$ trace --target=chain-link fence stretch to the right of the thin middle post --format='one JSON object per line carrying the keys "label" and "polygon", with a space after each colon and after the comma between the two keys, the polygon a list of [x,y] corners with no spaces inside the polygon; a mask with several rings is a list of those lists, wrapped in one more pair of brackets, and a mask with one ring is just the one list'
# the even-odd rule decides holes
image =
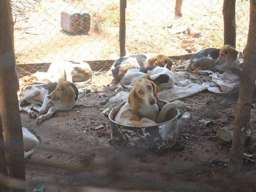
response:
{"label": "chain-link fence stretch to the right of the thin middle post", "polygon": [[[130,54],[163,52],[186,54],[202,48],[223,45],[223,0],[183,0],[182,17],[174,17],[176,0],[128,1],[126,14],[126,50]],[[236,48],[242,51],[247,42],[249,1],[236,0]],[[187,32],[194,27],[201,37]]]}

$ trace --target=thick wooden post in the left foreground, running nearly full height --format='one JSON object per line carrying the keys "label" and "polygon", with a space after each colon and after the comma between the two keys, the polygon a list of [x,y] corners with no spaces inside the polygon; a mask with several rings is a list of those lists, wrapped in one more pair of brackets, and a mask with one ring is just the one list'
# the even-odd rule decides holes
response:
{"label": "thick wooden post in the left foreground, running nearly full height", "polygon": [[[8,176],[25,180],[22,126],[17,97],[13,21],[9,0],[0,1],[0,114]],[[24,192],[25,190],[12,190]]]}

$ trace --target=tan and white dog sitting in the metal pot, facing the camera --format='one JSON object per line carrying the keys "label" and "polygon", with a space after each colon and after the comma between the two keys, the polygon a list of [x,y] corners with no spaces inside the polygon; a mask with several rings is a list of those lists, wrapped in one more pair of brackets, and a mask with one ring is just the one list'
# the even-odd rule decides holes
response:
{"label": "tan and white dog sitting in the metal pot, facing the camera", "polygon": [[120,108],[114,120],[131,126],[152,126],[166,121],[166,114],[171,108],[187,108],[181,101],[164,105],[158,112],[158,87],[152,81],[139,79],[134,83],[128,101]]}

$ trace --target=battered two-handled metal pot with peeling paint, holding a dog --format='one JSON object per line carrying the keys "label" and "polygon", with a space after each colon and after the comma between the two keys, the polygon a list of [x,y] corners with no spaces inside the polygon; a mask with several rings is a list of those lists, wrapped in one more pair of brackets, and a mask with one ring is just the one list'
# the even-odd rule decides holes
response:
{"label": "battered two-handled metal pot with peeling paint, holding a dog", "polygon": [[[117,146],[138,146],[148,150],[171,148],[178,138],[180,122],[189,117],[188,112],[180,114],[178,109],[173,108],[168,111],[168,121],[164,123],[146,127],[123,125],[115,122],[114,118],[125,103],[116,106],[108,115],[111,138]],[[168,102],[160,100],[158,108],[161,110],[166,103]]]}

